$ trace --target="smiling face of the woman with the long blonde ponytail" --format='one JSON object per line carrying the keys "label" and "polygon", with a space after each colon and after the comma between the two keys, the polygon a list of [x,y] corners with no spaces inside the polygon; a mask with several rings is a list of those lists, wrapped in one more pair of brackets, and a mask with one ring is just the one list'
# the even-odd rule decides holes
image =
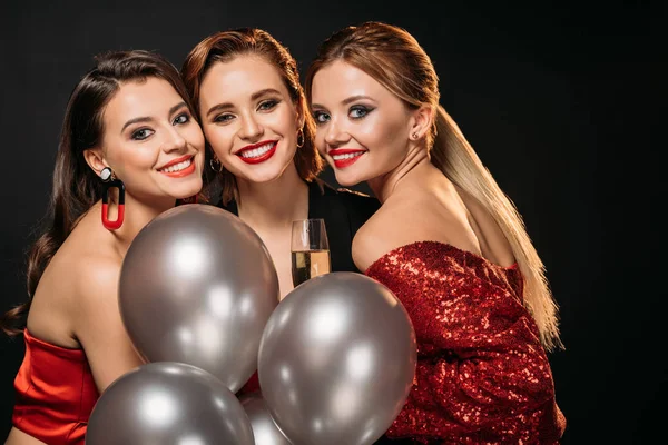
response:
{"label": "smiling face of the woman with the long blonde ponytail", "polygon": [[409,152],[409,109],[350,63],[337,60],[317,71],[311,108],[317,125],[317,149],[343,186],[391,172]]}

